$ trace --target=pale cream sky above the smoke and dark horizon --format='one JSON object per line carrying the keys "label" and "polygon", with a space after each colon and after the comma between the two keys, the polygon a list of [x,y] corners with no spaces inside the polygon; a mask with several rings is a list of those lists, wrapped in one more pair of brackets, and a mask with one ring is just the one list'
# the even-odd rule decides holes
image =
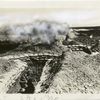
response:
{"label": "pale cream sky above the smoke and dark horizon", "polygon": [[33,19],[100,26],[100,0],[0,0],[1,23]]}

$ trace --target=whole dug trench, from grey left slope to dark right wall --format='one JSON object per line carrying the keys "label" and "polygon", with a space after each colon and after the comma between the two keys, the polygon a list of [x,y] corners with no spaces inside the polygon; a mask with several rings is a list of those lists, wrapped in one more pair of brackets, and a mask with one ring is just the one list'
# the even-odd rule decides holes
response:
{"label": "whole dug trench, from grey left slope to dark right wall", "polygon": [[[48,63],[47,78],[42,80],[42,75],[46,67],[47,60],[43,59],[34,59],[30,57],[26,60],[28,68],[26,68],[21,75],[18,77],[16,82],[9,88],[7,93],[21,93],[21,94],[33,94],[33,93],[44,93],[49,89],[49,86],[52,82],[54,75],[60,70],[61,58],[53,58],[50,63]],[[41,83],[42,80],[42,83]],[[36,87],[40,84],[40,91],[36,92]]]}

